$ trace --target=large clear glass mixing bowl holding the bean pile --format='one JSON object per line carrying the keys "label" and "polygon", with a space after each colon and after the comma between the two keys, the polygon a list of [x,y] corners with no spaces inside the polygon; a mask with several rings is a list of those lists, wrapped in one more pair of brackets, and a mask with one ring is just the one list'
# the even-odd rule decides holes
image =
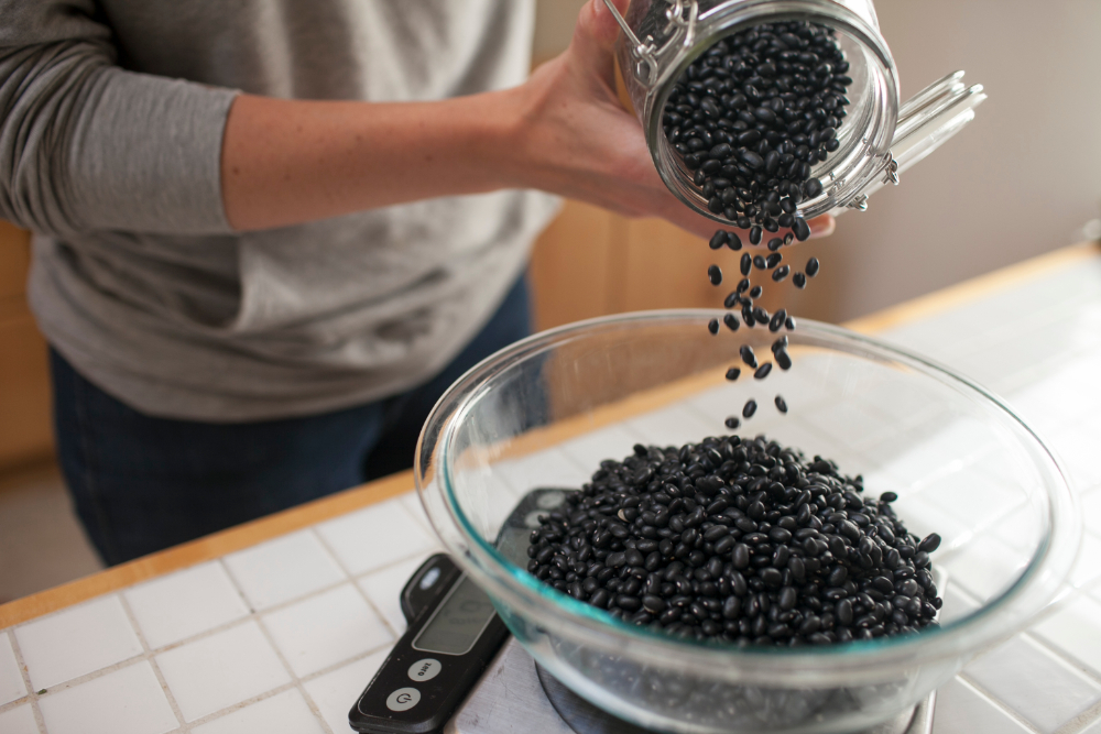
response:
{"label": "large clear glass mixing bowl holding the bean pile", "polygon": [[[914,705],[982,649],[1022,629],[1056,594],[1079,525],[1051,454],[999,398],[873,339],[811,321],[791,332],[789,371],[764,381],[739,364],[777,335],[711,336],[721,313],[629,314],[554,329],[487,359],[440,398],[421,436],[416,484],[456,561],[515,637],[597,706],[666,732],[851,732]],[[743,365],[744,366],[744,365]],[[773,408],[782,394],[787,415]],[[556,591],[494,547],[534,487],[579,487],[635,442],[679,446],[765,434],[894,491],[908,528],[938,532],[947,571],[939,628],[815,648],[684,642]],[[525,559],[526,560],[526,559]]]}

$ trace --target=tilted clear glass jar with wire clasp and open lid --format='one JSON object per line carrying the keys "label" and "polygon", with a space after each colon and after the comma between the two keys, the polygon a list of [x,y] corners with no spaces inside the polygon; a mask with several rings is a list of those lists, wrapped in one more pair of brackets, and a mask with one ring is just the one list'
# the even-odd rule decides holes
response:
{"label": "tilted clear glass jar with wire clasp and open lid", "polygon": [[956,72],[900,107],[894,58],[871,0],[632,0],[625,18],[610,0],[604,3],[623,31],[617,56],[657,172],[677,198],[728,226],[708,209],[662,124],[677,79],[724,36],[789,20],[836,32],[849,62],[851,105],[837,131],[840,146],[811,168],[822,191],[798,204],[797,216],[806,219],[838,208],[865,209],[872,193],[897,184],[898,174],[970,122],[986,98],[981,85],[964,86],[963,72]]}

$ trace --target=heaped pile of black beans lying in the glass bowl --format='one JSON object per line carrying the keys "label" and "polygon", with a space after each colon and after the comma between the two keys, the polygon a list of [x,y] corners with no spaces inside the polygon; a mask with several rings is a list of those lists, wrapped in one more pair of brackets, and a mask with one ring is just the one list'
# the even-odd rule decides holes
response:
{"label": "heaped pile of black beans lying in the glass bowl", "polygon": [[613,616],[682,638],[827,645],[935,625],[940,544],[886,492],[764,437],[637,445],[539,517],[527,569]]}

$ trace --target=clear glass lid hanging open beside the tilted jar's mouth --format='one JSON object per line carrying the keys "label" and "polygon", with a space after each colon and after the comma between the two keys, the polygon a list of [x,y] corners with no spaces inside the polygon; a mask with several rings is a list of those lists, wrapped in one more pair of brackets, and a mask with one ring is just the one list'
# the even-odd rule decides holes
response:
{"label": "clear glass lid hanging open beside the tilted jar's mouth", "polygon": [[900,108],[891,150],[884,156],[883,176],[876,176],[862,188],[848,208],[866,209],[869,196],[887,184],[897,184],[898,174],[940,147],[974,119],[974,108],[986,99],[986,94],[981,84],[968,87],[962,79],[963,72],[949,74]]}

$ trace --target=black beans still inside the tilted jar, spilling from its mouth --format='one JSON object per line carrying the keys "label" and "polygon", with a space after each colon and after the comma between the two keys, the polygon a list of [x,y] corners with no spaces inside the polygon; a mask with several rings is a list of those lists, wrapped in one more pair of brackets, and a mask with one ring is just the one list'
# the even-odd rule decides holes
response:
{"label": "black beans still inside the tilted jar, spilling from its mouth", "polygon": [[852,79],[833,32],[805,21],[761,23],[722,39],[677,80],[663,112],[710,211],[750,230],[810,234],[796,207],[821,194],[816,163],[839,146]]}

